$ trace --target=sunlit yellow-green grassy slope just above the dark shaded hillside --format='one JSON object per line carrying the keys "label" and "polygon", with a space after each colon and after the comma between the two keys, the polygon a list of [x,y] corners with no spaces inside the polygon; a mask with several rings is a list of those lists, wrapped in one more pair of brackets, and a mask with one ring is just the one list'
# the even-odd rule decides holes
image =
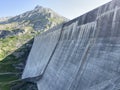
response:
{"label": "sunlit yellow-green grassy slope just above the dark shaded hillside", "polygon": [[20,48],[21,45],[25,44],[28,40],[32,39],[33,35],[23,34],[20,36],[12,36],[0,39],[0,61],[3,60],[7,55]]}

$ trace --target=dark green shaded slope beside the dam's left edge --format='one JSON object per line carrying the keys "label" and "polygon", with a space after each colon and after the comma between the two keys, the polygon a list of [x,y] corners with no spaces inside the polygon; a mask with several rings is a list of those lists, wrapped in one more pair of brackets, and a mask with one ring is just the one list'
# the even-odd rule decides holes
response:
{"label": "dark green shaded slope beside the dam's left edge", "polygon": [[[10,41],[6,42],[6,44],[9,42]],[[15,84],[16,80],[19,81],[32,43],[33,39],[22,45],[0,62],[0,90],[10,90],[11,85]],[[20,57],[14,55],[15,53],[21,54],[21,52],[24,52],[24,54]]]}

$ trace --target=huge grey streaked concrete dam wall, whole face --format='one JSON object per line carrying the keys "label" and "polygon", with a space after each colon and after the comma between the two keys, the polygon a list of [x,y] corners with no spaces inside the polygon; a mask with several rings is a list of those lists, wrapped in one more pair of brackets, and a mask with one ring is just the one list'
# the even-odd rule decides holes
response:
{"label": "huge grey streaked concrete dam wall, whole face", "polygon": [[22,78],[38,90],[120,90],[120,0],[38,35]]}

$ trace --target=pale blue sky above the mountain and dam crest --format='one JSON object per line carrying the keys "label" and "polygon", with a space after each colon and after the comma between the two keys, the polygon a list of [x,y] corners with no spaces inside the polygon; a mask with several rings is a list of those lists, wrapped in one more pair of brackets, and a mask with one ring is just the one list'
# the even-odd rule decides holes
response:
{"label": "pale blue sky above the mountain and dam crest", "polygon": [[73,19],[109,1],[111,0],[1,0],[0,17],[15,16],[40,5]]}

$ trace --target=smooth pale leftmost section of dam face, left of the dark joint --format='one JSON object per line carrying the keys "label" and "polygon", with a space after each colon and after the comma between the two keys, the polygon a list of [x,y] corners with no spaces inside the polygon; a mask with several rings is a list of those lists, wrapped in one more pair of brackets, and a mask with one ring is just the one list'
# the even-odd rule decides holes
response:
{"label": "smooth pale leftmost section of dam face, left of the dark joint", "polygon": [[[41,77],[41,75],[44,73],[45,68],[49,63],[49,60],[60,39],[61,28],[62,24],[35,37],[31,52],[27,60],[27,63],[29,64],[25,66],[26,70],[24,70],[22,75],[23,79],[28,77]],[[33,63],[31,63],[32,61]],[[29,65],[32,66],[32,68],[29,68]]]}

